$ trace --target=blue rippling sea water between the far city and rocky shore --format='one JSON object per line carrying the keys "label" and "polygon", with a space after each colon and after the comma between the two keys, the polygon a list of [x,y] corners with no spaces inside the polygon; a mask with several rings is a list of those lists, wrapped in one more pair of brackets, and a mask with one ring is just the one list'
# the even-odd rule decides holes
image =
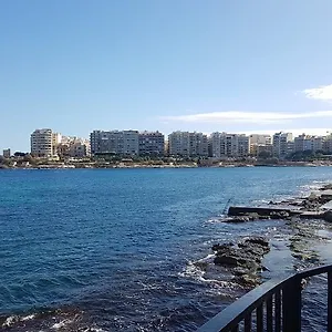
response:
{"label": "blue rippling sea water between the far city and rocky shore", "polygon": [[[195,331],[234,293],[193,262],[212,243],[284,228],[218,222],[227,204],[300,196],[331,180],[331,167],[2,170],[2,328]],[[293,269],[282,255],[276,262],[269,277]]]}

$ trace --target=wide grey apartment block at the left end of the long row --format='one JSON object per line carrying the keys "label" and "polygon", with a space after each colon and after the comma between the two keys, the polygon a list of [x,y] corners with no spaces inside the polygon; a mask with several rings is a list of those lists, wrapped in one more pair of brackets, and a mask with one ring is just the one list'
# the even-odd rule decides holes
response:
{"label": "wide grey apartment block at the left end of the long row", "polygon": [[138,155],[137,131],[93,131],[90,134],[91,153]]}

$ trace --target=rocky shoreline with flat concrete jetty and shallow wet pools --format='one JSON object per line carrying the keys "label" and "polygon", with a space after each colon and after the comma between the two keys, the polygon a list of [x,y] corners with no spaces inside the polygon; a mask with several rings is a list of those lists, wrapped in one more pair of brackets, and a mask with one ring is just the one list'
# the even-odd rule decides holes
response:
{"label": "rocky shoreline with flat concrete jetty and shallow wet pools", "polygon": [[[294,194],[282,201],[270,201],[264,207],[257,207],[257,211],[255,207],[252,210],[245,207],[239,208],[235,215],[234,208],[229,207],[230,212],[219,218],[220,224],[232,224],[237,227],[248,222],[276,220],[276,226],[277,222],[283,221],[284,229],[280,228],[273,236],[249,234],[246,237],[239,236],[236,241],[215,242],[210,248],[212,253],[208,255],[209,259],[200,259],[194,264],[204,274],[204,279],[237,284],[238,291],[248,291],[269,279],[277,278],[280,268],[295,273],[322,264],[322,261],[326,260],[326,255],[320,255],[320,250],[326,251],[325,247],[332,240],[331,203],[332,183],[325,181],[308,190],[303,197]],[[291,215],[284,210],[276,212],[274,206],[297,208],[299,214]],[[278,266],[276,269],[281,252],[288,256],[292,268]],[[267,262],[269,267],[266,266]]]}

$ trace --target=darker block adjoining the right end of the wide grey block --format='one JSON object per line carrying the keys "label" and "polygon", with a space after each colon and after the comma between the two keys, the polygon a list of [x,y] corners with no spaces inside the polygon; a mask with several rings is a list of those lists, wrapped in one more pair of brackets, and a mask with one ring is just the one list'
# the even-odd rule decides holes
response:
{"label": "darker block adjoining the right end of the wide grey block", "polygon": [[139,156],[163,156],[165,136],[159,132],[142,132],[138,135]]}

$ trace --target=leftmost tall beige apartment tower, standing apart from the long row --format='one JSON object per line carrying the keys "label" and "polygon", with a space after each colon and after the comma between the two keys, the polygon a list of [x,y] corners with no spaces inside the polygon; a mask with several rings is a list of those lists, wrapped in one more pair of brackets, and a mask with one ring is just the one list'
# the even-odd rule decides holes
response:
{"label": "leftmost tall beige apartment tower, standing apart from the long row", "polygon": [[53,151],[53,133],[52,129],[35,129],[31,134],[31,154],[37,157],[52,157]]}

